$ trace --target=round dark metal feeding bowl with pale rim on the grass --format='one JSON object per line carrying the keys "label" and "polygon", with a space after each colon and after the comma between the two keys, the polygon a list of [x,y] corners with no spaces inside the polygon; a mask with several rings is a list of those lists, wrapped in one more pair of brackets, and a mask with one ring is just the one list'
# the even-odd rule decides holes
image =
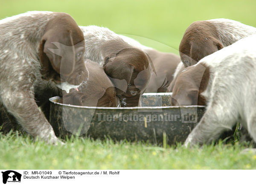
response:
{"label": "round dark metal feeding bowl with pale rim on the grass", "polygon": [[93,139],[149,141],[169,145],[184,142],[204,114],[204,106],[169,106],[172,93],[145,93],[142,107],[86,107],[50,98],[50,124],[57,136],[72,134]]}

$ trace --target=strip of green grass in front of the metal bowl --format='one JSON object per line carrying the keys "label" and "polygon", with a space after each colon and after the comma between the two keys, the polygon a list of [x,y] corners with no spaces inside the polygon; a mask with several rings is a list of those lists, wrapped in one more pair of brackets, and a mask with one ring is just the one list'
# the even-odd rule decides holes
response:
{"label": "strip of green grass in front of the metal bowl", "polygon": [[0,146],[0,169],[256,169],[256,155],[240,154],[238,143],[188,149],[73,137],[54,146],[13,133]]}

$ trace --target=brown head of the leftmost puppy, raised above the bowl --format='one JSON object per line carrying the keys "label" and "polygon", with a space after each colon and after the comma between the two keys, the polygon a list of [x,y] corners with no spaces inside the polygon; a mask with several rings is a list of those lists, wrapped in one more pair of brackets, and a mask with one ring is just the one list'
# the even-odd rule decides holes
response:
{"label": "brown head of the leftmost puppy, raised above the bowl", "polygon": [[[72,46],[73,49],[69,51],[69,47],[61,47],[63,56],[60,56],[49,51],[49,48],[56,48],[52,42]],[[67,81],[79,85],[86,77],[84,50],[84,35],[75,20],[69,14],[56,13],[55,18],[47,24],[39,47],[42,77],[57,83]]]}

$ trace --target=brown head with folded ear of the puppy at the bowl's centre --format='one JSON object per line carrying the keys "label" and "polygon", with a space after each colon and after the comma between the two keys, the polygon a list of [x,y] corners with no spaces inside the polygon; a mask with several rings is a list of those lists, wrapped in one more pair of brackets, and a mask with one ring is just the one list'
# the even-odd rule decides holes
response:
{"label": "brown head with folded ear of the puppy at the bowl's centre", "polygon": [[[147,55],[140,49],[125,48],[109,55],[104,61],[104,70],[113,80],[116,94],[120,98],[122,107],[135,107],[139,105],[140,96],[144,93],[151,77],[151,67]],[[121,88],[125,79],[127,90]],[[121,83],[121,84],[120,84]]]}

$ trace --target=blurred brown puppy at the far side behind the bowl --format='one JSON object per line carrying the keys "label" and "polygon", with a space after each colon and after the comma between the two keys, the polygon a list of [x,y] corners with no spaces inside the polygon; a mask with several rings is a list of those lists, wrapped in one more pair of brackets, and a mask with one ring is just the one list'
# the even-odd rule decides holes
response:
{"label": "blurred brown puppy at the far side behind the bowl", "polygon": [[143,50],[152,60],[155,72],[151,72],[151,78],[145,93],[167,92],[167,87],[173,80],[175,69],[180,63],[180,57],[173,53],[159,52],[156,49],[143,46],[138,41],[124,35],[120,35],[120,37],[131,46]]}

